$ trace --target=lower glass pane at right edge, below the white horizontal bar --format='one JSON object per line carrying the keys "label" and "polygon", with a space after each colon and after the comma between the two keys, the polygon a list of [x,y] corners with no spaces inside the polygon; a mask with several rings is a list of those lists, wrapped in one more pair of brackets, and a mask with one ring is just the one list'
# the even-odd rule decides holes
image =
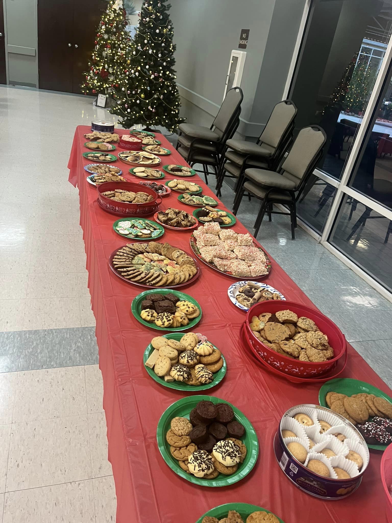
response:
{"label": "lower glass pane at right edge, below the white horizontal bar", "polygon": [[392,221],[345,195],[330,243],[392,291]]}

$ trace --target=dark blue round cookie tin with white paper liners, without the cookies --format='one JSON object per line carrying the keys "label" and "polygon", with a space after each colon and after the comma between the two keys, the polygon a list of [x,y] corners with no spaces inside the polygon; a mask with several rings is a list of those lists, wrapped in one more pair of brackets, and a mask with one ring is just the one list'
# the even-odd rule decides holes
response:
{"label": "dark blue round cookie tin with white paper liners, without the cookies", "polygon": [[[356,450],[361,449],[362,457],[363,457],[363,466],[361,468],[361,471],[359,474],[350,477],[349,479],[333,479],[332,477],[325,477],[321,476],[319,474],[316,474],[315,472],[309,470],[307,467],[305,467],[304,464],[296,460],[292,454],[287,450],[285,441],[282,437],[282,429],[286,428],[287,425],[287,417],[291,418],[291,415],[294,415],[294,412],[302,412],[305,410],[305,412],[310,412],[310,410],[314,410],[314,414],[317,413],[317,418],[319,417],[335,417],[339,420],[339,425],[336,426],[337,431],[343,430],[344,432],[348,431],[348,434],[352,434],[355,439],[355,443],[353,443],[354,439],[349,439],[351,442],[350,446],[355,446]],[[324,413],[324,416],[322,416],[322,413]],[[294,420],[295,421],[295,420]],[[299,429],[301,429],[301,425],[299,425]],[[344,426],[344,427],[343,427]],[[310,428],[310,427],[307,427]],[[332,425],[333,430],[333,425]],[[328,433],[329,431],[327,431]],[[287,438],[286,438],[287,439]],[[289,438],[290,440],[298,438]],[[334,438],[337,439],[337,438]],[[338,441],[338,440],[337,440]],[[317,441],[316,441],[317,445]],[[330,442],[327,443],[328,446],[330,446]],[[343,444],[342,444],[343,445]],[[279,463],[280,468],[282,469],[283,473],[291,480],[298,488],[301,488],[304,492],[307,494],[310,494],[311,496],[318,497],[320,499],[342,499],[344,497],[349,496],[352,494],[361,484],[362,481],[362,475],[365,472],[368,462],[369,462],[369,451],[366,446],[366,442],[364,438],[362,437],[359,430],[357,430],[354,425],[352,425],[347,419],[345,419],[340,414],[337,414],[336,412],[332,412],[329,408],[320,406],[320,405],[314,405],[314,404],[302,404],[302,405],[296,405],[294,407],[289,408],[288,411],[286,411],[281,419],[281,422],[279,424],[278,431],[275,434],[274,441],[274,452],[276,460]],[[316,446],[315,446],[316,447]],[[312,451],[310,451],[312,452]],[[309,454],[310,454],[309,452]],[[312,453],[314,455],[314,453]],[[317,459],[320,457],[321,459],[325,459],[324,454],[318,454],[318,456],[315,456],[312,459]],[[340,458],[340,456],[336,456],[335,458]],[[334,458],[331,458],[331,460]],[[329,461],[329,460],[327,460]],[[347,461],[347,460],[345,460]],[[306,461],[305,461],[306,463]],[[352,462],[351,462],[352,463]],[[333,464],[330,466],[338,467],[340,464]],[[352,467],[352,465],[351,465]]]}

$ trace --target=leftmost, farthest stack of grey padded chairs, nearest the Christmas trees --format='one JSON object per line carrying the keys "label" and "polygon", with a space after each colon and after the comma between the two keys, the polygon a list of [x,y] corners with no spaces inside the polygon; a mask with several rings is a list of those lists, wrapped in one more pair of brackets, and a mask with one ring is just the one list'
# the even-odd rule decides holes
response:
{"label": "leftmost, farthest stack of grey padded chairs, nearest the Christmas trees", "polygon": [[209,128],[181,123],[176,149],[190,166],[200,163],[208,184],[208,166],[211,165],[217,176],[226,141],[233,137],[239,124],[241,102],[244,95],[239,87],[227,91],[225,99]]}

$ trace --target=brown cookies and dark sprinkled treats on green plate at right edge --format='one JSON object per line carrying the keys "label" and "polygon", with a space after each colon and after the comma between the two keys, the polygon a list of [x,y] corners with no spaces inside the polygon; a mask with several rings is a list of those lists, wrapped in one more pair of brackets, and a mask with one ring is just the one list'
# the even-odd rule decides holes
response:
{"label": "brown cookies and dark sprinkled treats on green plate at right edge", "polygon": [[[330,409],[348,419],[369,445],[392,443],[392,404],[383,397],[360,392],[347,396],[328,392],[325,398]],[[372,418],[369,421],[369,418]]]}

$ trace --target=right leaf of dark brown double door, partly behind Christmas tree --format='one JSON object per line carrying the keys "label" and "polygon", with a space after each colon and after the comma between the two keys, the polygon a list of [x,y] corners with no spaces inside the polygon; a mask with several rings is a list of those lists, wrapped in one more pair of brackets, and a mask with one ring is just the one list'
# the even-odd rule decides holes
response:
{"label": "right leaf of dark brown double door, partly behind Christmas tree", "polygon": [[74,40],[73,53],[73,93],[81,93],[80,84],[85,80],[84,72],[95,47],[97,30],[102,11],[108,3],[105,0],[75,0],[74,3]]}

